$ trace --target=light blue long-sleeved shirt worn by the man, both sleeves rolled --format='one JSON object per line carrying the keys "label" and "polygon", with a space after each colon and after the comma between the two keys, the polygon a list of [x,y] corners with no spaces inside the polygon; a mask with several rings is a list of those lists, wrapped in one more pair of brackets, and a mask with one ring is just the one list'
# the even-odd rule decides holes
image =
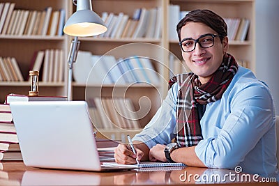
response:
{"label": "light blue long-sleeved shirt worn by the man, both sleeves rolled", "polygon": [[[133,140],[149,148],[169,144],[176,135],[178,84],[144,130]],[[197,157],[209,168],[234,169],[260,176],[277,176],[276,125],[269,88],[246,68],[239,66],[220,100],[206,105],[200,121],[202,136],[195,147]]]}

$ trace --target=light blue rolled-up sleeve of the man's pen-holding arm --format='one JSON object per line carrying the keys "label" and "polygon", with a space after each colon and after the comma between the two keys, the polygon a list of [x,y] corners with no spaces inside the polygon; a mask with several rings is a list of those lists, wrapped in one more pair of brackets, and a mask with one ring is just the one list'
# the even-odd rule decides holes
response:
{"label": "light blue rolled-up sleeve of the man's pen-holding arm", "polygon": [[144,130],[133,137],[133,141],[142,141],[149,148],[156,144],[169,144],[174,138],[177,84],[169,89],[167,97]]}

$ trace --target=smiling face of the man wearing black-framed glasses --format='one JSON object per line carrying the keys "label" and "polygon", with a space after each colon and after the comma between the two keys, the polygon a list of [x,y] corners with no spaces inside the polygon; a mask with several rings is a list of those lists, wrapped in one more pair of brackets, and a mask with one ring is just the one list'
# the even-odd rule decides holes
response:
{"label": "smiling face of the man wearing black-framed glasses", "polygon": [[[197,39],[206,33],[216,34],[216,31],[211,29],[206,24],[198,22],[189,22],[181,28],[181,40],[184,38]],[[209,48],[202,48],[199,43],[196,43],[195,49],[192,52],[183,52],[182,56],[186,65],[195,75],[199,76],[202,84],[209,81],[213,73],[219,68],[223,61],[223,56],[228,49],[228,39],[225,37],[223,42],[220,42],[219,37],[214,37],[214,45]]]}

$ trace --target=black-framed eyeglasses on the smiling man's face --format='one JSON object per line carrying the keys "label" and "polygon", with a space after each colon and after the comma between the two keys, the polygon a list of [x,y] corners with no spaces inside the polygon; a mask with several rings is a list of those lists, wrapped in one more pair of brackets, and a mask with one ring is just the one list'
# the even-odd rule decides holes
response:
{"label": "black-framed eyeglasses on the smiling man's face", "polygon": [[192,52],[196,48],[197,42],[199,46],[206,49],[212,47],[214,45],[214,38],[215,37],[222,37],[212,33],[206,33],[196,40],[193,38],[185,38],[179,42],[179,45],[183,52]]}

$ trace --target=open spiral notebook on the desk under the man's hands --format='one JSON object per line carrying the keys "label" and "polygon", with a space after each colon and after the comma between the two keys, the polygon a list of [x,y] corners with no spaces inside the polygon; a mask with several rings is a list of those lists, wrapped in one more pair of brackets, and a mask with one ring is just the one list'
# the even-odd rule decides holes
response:
{"label": "open spiral notebook on the desk under the man's hands", "polygon": [[139,168],[149,168],[149,167],[165,167],[165,166],[186,166],[183,163],[171,163],[171,162],[140,162],[140,164],[117,164],[116,162],[103,162],[106,166],[126,166],[133,167],[135,169]]}

